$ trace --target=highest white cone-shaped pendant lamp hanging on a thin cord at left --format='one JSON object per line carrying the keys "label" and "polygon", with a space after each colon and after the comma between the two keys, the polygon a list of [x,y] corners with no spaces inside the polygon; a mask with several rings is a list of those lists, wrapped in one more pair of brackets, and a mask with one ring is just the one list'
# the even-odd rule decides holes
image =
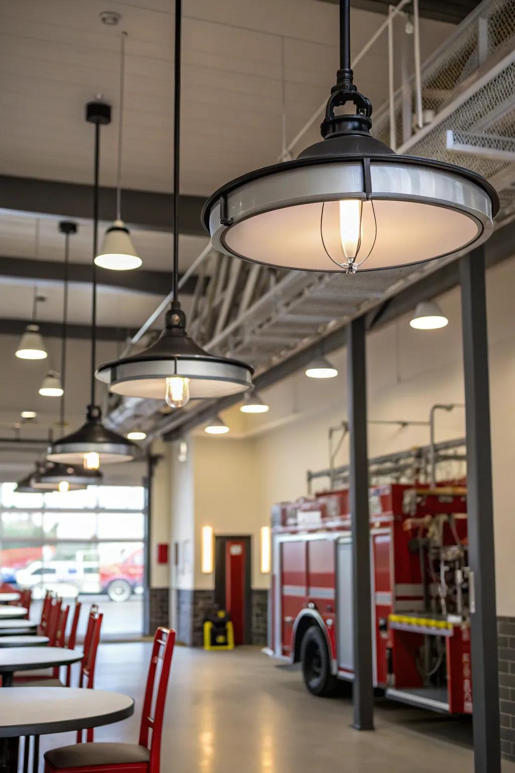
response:
{"label": "highest white cone-shaped pendant lamp hanging on a thin cord at left", "polygon": [[124,87],[125,87],[125,40],[127,32],[121,33],[120,47],[120,107],[118,114],[118,171],[117,171],[117,217],[103,237],[102,249],[95,257],[95,263],[111,271],[129,271],[141,266],[130,231],[121,219],[121,162],[122,137],[124,128]]}

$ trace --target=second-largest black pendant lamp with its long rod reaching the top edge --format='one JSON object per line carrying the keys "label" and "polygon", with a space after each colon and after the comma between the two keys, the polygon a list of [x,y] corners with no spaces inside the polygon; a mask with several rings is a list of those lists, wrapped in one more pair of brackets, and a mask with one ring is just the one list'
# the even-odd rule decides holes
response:
{"label": "second-largest black pendant lamp with its long rod reaching the top edge", "polygon": [[190,399],[215,398],[244,392],[252,386],[253,370],[235,359],[205,352],[186,332],[185,312],[178,301],[179,258],[179,134],[181,127],[181,0],[175,2],[174,73],[174,270],[173,301],[166,314],[164,331],[147,349],[130,357],[106,363],[97,378],[111,392],[126,397],[166,400],[171,408],[185,406]]}

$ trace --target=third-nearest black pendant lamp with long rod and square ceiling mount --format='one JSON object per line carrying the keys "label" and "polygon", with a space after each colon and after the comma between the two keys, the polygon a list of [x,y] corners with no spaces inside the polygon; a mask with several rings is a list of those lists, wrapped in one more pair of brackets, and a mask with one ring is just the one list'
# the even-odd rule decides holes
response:
{"label": "third-nearest black pendant lamp with long rod and square ceiling mount", "polygon": [[110,105],[90,102],[86,105],[86,121],[95,126],[95,162],[93,186],[93,303],[91,311],[91,401],[86,410],[86,423],[79,430],[55,441],[49,449],[49,461],[65,464],[83,464],[88,470],[95,470],[100,464],[130,461],[136,455],[136,446],[127,438],[113,432],[102,424],[102,412],[95,404],[95,361],[97,358],[97,255],[98,237],[98,194],[100,164],[100,125],[109,124]]}

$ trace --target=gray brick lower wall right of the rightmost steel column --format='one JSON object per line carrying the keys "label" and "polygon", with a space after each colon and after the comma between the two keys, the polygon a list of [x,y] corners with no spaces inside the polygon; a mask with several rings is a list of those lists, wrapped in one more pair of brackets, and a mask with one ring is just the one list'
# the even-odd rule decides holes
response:
{"label": "gray brick lower wall right of the rightmost steel column", "polygon": [[500,745],[515,760],[515,618],[497,618],[499,646]]}

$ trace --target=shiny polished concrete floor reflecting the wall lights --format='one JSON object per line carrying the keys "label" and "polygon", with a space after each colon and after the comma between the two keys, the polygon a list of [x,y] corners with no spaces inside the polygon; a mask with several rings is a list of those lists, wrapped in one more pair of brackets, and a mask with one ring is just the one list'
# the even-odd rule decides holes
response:
{"label": "shiny polished concrete floor reflecting the wall lights", "polygon": [[[147,643],[100,647],[97,687],[128,693],[135,716],[99,728],[97,741],[137,741]],[[56,688],[57,689],[57,688]],[[469,721],[378,700],[375,732],[352,730],[351,703],[310,696],[301,675],[254,648],[174,653],[163,773],[470,773]],[[42,737],[42,750],[74,742]],[[503,773],[515,764],[503,763]]]}

